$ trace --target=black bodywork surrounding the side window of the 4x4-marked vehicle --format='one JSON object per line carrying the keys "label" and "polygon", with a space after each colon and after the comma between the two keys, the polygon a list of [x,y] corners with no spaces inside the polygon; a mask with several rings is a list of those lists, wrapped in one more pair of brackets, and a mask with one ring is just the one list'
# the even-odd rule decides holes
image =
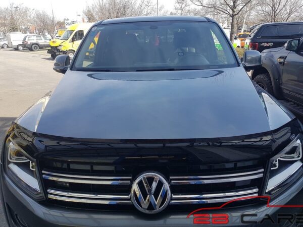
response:
{"label": "black bodywork surrounding the side window of the 4x4-marked vehicle", "polygon": [[294,38],[300,38],[301,36],[288,36],[288,37],[263,37],[261,34],[268,27],[273,25],[292,25],[292,24],[303,24],[303,22],[284,22],[284,23],[267,23],[260,25],[259,29],[255,32],[254,35],[249,36],[246,39],[249,39],[251,43],[258,43],[258,51],[262,52],[266,49],[277,48],[284,46],[284,44]]}

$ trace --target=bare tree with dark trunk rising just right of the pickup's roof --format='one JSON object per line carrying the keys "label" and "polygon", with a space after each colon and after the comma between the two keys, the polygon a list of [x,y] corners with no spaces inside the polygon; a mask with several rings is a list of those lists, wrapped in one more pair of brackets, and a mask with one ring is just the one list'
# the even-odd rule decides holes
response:
{"label": "bare tree with dark trunk rising just right of the pickup's roof", "polygon": [[233,42],[236,17],[252,0],[190,0],[194,5],[206,8],[209,13],[226,15],[231,19],[230,41]]}

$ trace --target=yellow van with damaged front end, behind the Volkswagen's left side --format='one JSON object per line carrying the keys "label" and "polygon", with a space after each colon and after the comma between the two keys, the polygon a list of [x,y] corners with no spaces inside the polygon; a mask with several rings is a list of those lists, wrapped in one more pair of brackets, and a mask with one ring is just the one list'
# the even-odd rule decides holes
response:
{"label": "yellow van with damaged front end, behind the Volkswagen's left side", "polygon": [[51,49],[47,53],[50,53],[53,59],[60,54],[67,54],[72,59],[81,40],[92,25],[93,23],[72,24],[59,39],[49,41]]}

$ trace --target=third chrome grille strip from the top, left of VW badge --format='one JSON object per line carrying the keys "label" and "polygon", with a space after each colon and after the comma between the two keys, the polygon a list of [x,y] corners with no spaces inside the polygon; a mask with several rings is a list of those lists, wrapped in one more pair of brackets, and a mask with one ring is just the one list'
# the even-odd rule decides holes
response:
{"label": "third chrome grille strip from the top, left of VW badge", "polygon": [[85,193],[73,193],[57,191],[53,189],[48,189],[47,193],[53,195],[60,195],[65,197],[79,197],[79,198],[93,198],[93,199],[129,199],[130,195],[102,195],[102,194],[85,194]]}

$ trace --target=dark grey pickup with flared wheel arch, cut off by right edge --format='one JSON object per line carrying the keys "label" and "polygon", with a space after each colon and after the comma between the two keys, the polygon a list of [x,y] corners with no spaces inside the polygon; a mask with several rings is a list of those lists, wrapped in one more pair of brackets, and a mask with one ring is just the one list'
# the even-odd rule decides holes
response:
{"label": "dark grey pickup with flared wheel arch, cut off by right edge", "polygon": [[251,79],[294,113],[303,116],[303,38],[262,52],[262,68]]}

